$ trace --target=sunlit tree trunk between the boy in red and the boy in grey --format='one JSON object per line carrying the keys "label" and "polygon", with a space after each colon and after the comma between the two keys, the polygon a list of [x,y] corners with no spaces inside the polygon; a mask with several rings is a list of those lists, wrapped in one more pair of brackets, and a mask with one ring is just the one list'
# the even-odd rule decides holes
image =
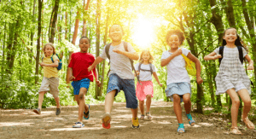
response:
{"label": "sunlit tree trunk between the boy in red and the boy in grey", "polygon": [[[96,9],[96,57],[98,57],[100,55],[101,3],[102,3],[102,0],[97,0],[97,9]],[[97,65],[96,68],[99,69],[99,65]],[[97,87],[97,84],[96,84],[96,99],[97,99],[98,96],[99,96],[99,88]]]}

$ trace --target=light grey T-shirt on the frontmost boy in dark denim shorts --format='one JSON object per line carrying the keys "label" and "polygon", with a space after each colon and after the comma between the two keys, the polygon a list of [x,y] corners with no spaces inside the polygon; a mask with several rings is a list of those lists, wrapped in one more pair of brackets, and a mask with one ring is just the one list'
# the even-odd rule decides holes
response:
{"label": "light grey T-shirt on the frontmost boy in dark denim shorts", "polygon": [[[120,78],[123,79],[134,79],[134,75],[132,73],[131,61],[125,55],[121,55],[113,52],[114,48],[119,48],[122,51],[125,51],[124,42],[119,45],[112,46],[110,45],[108,54],[110,56],[110,72],[108,75],[112,73],[116,73]],[[105,52],[106,46],[104,47],[102,54],[100,57],[102,59],[107,59],[107,55]],[[127,49],[130,53],[135,53],[136,51],[132,48],[130,43],[127,43]]]}

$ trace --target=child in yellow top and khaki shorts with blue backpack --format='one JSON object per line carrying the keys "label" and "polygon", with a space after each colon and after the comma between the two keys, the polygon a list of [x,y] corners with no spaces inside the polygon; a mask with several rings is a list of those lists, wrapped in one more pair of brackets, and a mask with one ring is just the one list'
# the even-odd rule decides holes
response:
{"label": "child in yellow top and khaki shorts with blue backpack", "polygon": [[[44,100],[44,94],[48,91],[52,96],[55,98],[56,101],[56,115],[61,113],[61,105],[60,105],[60,98],[59,98],[59,78],[58,78],[58,63],[59,58],[55,52],[55,47],[53,43],[46,43],[44,45],[44,57],[42,58],[42,62],[40,65],[44,67],[44,78],[42,80],[41,87],[39,89],[39,96],[38,96],[38,108],[34,109],[33,112],[37,114],[41,114],[42,110],[42,103]],[[53,59],[53,61],[51,60]]]}

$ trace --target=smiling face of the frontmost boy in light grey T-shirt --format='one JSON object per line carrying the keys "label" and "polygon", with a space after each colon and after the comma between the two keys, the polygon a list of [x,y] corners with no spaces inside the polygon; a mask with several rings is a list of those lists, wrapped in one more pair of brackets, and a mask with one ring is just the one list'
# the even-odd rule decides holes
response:
{"label": "smiling face of the frontmost boy in light grey T-shirt", "polygon": [[121,41],[124,36],[121,26],[113,25],[109,29],[108,37],[112,39],[113,42]]}

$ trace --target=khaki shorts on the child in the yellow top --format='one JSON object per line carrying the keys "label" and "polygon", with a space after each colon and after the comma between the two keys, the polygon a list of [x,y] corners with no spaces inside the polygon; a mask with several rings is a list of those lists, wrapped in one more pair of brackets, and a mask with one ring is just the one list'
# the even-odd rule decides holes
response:
{"label": "khaki shorts on the child in the yellow top", "polygon": [[48,92],[55,98],[59,96],[59,78],[43,78],[38,92]]}

